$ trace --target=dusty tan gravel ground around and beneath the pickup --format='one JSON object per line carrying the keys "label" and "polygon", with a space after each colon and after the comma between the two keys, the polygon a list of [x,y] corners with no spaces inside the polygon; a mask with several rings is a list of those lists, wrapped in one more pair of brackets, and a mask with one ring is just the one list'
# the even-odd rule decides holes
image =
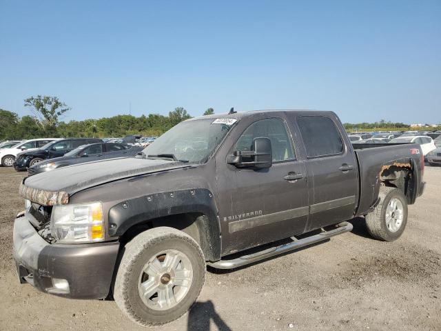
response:
{"label": "dusty tan gravel ground around and beneath the pickup", "polygon": [[[20,285],[12,223],[23,173],[0,167],[0,329],[145,330],[112,301],[54,297]],[[441,168],[409,206],[403,236],[370,239],[363,219],[330,241],[233,272],[209,269],[189,314],[154,330],[441,330]]]}

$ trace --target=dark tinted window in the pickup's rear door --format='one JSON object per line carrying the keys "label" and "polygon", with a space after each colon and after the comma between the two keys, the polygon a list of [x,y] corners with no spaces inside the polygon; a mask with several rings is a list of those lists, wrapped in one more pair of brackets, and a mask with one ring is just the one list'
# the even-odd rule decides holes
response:
{"label": "dark tinted window in the pickup's rear door", "polygon": [[334,122],[324,116],[302,116],[297,120],[307,157],[340,154],[343,143]]}

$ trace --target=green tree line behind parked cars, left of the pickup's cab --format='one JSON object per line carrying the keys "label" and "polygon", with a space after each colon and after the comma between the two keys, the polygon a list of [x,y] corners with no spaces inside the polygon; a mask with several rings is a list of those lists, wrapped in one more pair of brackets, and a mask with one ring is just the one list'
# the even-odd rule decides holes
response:
{"label": "green tree line behind parked cars, left of the pickup's cab", "polygon": [[[84,121],[60,121],[60,117],[71,110],[57,97],[38,95],[24,100],[32,115],[18,114],[0,109],[0,139],[32,139],[39,137],[124,137],[139,134],[145,137],[159,136],[177,123],[190,119],[183,107],[177,107],[168,116],[148,114],[116,115]],[[204,115],[214,114],[213,108]]]}

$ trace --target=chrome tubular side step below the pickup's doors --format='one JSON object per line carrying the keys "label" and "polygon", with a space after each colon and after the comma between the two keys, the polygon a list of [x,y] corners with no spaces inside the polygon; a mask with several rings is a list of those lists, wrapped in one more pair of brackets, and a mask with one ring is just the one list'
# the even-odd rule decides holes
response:
{"label": "chrome tubular side step below the pickup's doors", "polygon": [[318,243],[324,241],[328,238],[334,237],[337,234],[342,234],[345,232],[350,232],[352,230],[352,224],[348,222],[342,222],[336,225],[337,228],[329,231],[324,231],[319,234],[314,234],[311,237],[306,237],[302,239],[296,239],[291,237],[293,241],[291,243],[285,243],[280,246],[271,247],[267,250],[262,250],[254,254],[244,255],[243,257],[238,257],[232,260],[220,260],[216,262],[207,262],[207,265],[216,269],[233,269],[241,267],[242,265],[247,265],[249,263],[254,263],[269,257],[274,257],[275,255],[283,254],[289,252],[290,250],[296,250],[297,248],[305,247],[307,245],[312,245],[313,243]]}

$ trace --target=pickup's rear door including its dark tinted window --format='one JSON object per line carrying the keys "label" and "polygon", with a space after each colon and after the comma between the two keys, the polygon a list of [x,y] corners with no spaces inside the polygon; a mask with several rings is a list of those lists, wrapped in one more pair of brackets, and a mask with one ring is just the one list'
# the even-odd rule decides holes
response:
{"label": "pickup's rear door including its dark tinted window", "polygon": [[351,219],[358,192],[357,163],[338,119],[305,115],[295,121],[305,147],[311,188],[307,230]]}

